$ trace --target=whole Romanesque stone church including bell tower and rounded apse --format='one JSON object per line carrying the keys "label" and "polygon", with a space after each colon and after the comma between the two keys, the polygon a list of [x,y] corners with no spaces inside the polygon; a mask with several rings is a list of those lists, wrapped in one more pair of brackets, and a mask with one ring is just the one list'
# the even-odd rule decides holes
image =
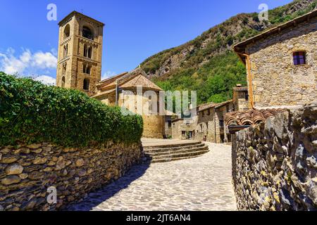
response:
{"label": "whole Romanesque stone church including bell tower and rounded apse", "polygon": [[[149,101],[144,97],[147,91],[156,94],[159,86],[149,81],[145,72],[137,68],[132,72],[101,81],[101,58],[104,23],[87,15],[73,11],[61,20],[58,37],[58,65],[56,86],[77,89],[99,99],[107,105],[123,106],[123,91],[132,91],[135,98],[140,97],[142,105],[149,108],[147,113],[139,113],[144,119],[144,137],[163,138],[165,135],[165,117],[158,115],[159,99]],[[137,86],[142,86],[142,94],[137,96]],[[159,96],[159,95],[158,95]],[[152,110],[158,105],[157,111]]]}

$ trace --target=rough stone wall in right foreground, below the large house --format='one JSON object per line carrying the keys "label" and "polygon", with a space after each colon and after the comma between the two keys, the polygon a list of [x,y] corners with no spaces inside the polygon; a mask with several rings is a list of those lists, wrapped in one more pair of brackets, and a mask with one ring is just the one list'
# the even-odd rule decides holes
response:
{"label": "rough stone wall in right foreground, below the large house", "polygon": [[233,136],[239,210],[317,210],[317,103]]}

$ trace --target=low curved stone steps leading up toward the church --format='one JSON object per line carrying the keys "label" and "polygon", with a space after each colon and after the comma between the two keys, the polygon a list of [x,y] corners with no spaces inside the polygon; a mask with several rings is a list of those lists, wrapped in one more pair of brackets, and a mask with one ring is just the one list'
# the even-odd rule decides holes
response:
{"label": "low curved stone steps leading up toward the church", "polygon": [[171,162],[197,158],[209,152],[209,147],[201,141],[191,141],[187,143],[166,143],[166,145],[143,146],[144,155],[152,163]]}

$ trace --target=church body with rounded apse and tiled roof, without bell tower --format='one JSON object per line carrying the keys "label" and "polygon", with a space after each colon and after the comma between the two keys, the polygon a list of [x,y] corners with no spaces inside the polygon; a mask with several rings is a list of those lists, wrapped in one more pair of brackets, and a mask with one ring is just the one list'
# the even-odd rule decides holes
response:
{"label": "church body with rounded apse and tiled roof, without bell tower", "polygon": [[[130,112],[142,115],[143,136],[162,139],[166,136],[166,119],[165,113],[160,113],[159,91],[163,90],[145,76],[144,70],[137,68],[105,79],[97,84],[97,94],[93,98],[106,105],[125,106]],[[141,88],[140,92],[137,91],[138,87]],[[126,91],[130,91],[130,94]],[[137,108],[138,100],[142,103],[141,111]]]}

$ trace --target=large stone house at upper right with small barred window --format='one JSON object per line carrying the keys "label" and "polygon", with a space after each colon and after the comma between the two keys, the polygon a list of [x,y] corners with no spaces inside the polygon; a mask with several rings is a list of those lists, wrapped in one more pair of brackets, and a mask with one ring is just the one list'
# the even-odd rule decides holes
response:
{"label": "large stone house at upper right with small barred window", "polygon": [[250,109],[299,107],[316,99],[317,10],[234,49],[247,66]]}

